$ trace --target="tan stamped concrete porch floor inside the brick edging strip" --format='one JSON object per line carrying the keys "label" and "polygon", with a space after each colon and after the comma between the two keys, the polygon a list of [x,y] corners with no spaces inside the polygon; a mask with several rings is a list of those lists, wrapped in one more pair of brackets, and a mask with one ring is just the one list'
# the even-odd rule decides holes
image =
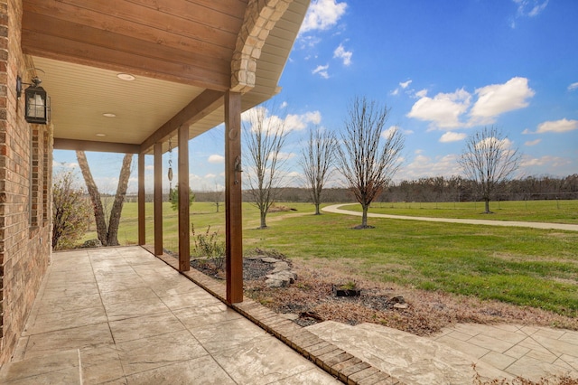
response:
{"label": "tan stamped concrete porch floor inside the brick edging strip", "polygon": [[3,384],[331,384],[140,247],[54,253]]}

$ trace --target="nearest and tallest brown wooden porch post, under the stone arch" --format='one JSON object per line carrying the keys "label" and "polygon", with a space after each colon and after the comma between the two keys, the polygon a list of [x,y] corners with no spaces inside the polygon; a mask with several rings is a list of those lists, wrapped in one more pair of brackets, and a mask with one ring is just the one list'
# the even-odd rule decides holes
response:
{"label": "nearest and tallest brown wooden porch post, under the stone arch", "polygon": [[241,94],[225,93],[225,237],[227,302],[243,302]]}

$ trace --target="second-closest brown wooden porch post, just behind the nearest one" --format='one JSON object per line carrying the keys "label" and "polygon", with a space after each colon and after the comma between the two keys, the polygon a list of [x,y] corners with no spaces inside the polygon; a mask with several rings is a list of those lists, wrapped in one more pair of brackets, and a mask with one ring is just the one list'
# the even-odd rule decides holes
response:
{"label": "second-closest brown wooden porch post, just behind the nearest one", "polygon": [[189,231],[189,125],[179,127],[179,271],[191,269]]}

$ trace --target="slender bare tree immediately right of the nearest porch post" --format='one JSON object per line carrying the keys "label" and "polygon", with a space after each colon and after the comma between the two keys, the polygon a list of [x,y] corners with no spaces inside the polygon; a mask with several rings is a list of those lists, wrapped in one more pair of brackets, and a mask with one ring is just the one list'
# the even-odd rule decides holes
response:
{"label": "slender bare tree immediately right of the nearest porch post", "polygon": [[259,229],[266,229],[266,215],[281,186],[284,159],[280,156],[287,133],[284,118],[268,116],[261,106],[247,112],[243,121],[247,164],[247,194],[260,212]]}

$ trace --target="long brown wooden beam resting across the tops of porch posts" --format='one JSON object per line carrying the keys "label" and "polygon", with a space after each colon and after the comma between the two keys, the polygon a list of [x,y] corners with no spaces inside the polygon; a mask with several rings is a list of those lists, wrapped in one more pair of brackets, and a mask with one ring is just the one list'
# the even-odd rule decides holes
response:
{"label": "long brown wooden beam resting across the tops of porch posts", "polygon": [[220,91],[205,90],[174,117],[164,123],[162,127],[154,131],[151,136],[144,139],[140,152],[145,153],[157,142],[165,141],[179,127],[186,126],[188,128],[202,117],[209,115],[212,111],[219,108],[223,95],[223,92]]}

